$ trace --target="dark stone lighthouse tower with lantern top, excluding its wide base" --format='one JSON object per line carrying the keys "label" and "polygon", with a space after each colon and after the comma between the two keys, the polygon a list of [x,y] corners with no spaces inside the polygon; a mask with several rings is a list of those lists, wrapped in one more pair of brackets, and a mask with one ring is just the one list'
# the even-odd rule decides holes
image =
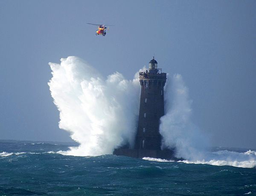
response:
{"label": "dark stone lighthouse tower with lantern top, excluding its wide base", "polygon": [[141,95],[136,148],[160,150],[159,123],[164,115],[163,87],[166,83],[166,73],[157,69],[157,61],[153,57],[149,62],[149,69],[140,72],[139,78]]}

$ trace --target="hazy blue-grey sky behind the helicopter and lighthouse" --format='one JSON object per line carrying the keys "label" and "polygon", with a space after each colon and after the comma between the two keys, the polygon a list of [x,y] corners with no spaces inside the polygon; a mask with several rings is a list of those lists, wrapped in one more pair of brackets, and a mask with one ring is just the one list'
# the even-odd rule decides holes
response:
{"label": "hazy blue-grey sky behind the helicopter and lighthouse", "polygon": [[[109,24],[105,37],[97,26]],[[72,141],[49,62],[77,56],[126,79],[152,57],[180,74],[212,146],[256,148],[256,1],[0,1],[0,139]]]}

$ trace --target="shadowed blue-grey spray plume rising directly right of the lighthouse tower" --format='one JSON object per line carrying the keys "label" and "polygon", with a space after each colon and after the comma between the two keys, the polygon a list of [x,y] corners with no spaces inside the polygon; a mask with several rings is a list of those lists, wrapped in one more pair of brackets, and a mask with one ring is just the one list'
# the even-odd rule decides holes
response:
{"label": "shadowed blue-grey spray plume rising directly right of the lighthouse tower", "polygon": [[160,118],[162,149],[175,148],[177,158],[198,160],[209,144],[207,137],[190,120],[192,101],[188,88],[179,74],[167,75],[165,86],[165,115]]}

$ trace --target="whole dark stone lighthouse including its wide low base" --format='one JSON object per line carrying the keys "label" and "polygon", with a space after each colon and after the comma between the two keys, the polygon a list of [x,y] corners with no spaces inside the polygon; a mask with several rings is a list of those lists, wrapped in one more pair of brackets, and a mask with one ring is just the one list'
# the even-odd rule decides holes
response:
{"label": "whole dark stone lighthouse including its wide low base", "polygon": [[159,133],[160,118],[164,115],[164,85],[166,73],[157,68],[157,61],[149,61],[149,68],[139,75],[141,94],[140,112],[135,146],[133,149],[121,147],[113,154],[134,158],[152,157],[173,159],[174,150],[161,150],[162,137]]}

